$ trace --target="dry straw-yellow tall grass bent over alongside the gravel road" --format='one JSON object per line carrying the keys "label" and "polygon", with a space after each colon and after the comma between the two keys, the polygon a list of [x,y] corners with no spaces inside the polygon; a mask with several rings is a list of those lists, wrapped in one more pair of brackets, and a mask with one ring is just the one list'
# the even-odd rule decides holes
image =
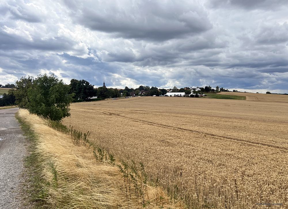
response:
{"label": "dry straw-yellow tall grass bent over alongside the gravel road", "polygon": [[[91,147],[74,145],[71,136],[49,127],[46,120],[23,109],[18,115],[38,138],[48,208],[143,208],[133,193],[127,197],[117,166],[97,161]],[[146,208],[179,208],[168,203],[159,187],[147,185],[146,195]]]}

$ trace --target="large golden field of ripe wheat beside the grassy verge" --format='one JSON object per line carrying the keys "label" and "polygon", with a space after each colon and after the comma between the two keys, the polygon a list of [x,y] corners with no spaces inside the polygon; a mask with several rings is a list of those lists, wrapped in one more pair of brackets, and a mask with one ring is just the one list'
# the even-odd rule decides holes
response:
{"label": "large golden field of ripe wheat beside the grassy verge", "polygon": [[287,208],[287,98],[74,103],[63,123],[90,131],[115,156],[143,162],[151,180],[190,208]]}

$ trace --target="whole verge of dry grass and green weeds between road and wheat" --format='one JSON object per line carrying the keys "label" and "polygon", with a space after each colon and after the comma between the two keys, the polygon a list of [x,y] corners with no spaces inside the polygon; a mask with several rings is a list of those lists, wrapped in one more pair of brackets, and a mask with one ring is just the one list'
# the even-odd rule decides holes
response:
{"label": "whole verge of dry grass and green weeds between road and wheat", "polygon": [[144,171],[129,170],[108,152],[95,149],[87,140],[88,133],[80,137],[73,128],[71,135],[63,133],[55,130],[55,123],[23,109],[17,118],[33,143],[26,162],[33,182],[29,192],[38,207],[183,208],[169,201],[160,187],[143,182]]}

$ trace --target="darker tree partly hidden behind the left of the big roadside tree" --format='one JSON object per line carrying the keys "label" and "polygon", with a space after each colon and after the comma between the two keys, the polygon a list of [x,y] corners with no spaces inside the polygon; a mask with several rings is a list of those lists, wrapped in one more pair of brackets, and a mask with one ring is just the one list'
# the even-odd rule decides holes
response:
{"label": "darker tree partly hidden behind the left of the big roadside tree", "polygon": [[28,76],[26,78],[25,76],[22,77],[19,81],[16,81],[16,91],[14,92],[16,97],[16,104],[20,108],[27,108],[26,105],[29,102],[28,99],[28,89],[32,88],[33,85],[33,77]]}

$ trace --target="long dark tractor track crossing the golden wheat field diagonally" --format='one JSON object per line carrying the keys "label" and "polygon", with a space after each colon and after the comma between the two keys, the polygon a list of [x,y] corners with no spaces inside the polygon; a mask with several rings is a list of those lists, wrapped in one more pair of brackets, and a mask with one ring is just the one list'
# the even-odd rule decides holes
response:
{"label": "long dark tractor track crossing the golden wheat field diagonally", "polygon": [[173,129],[173,130],[185,130],[185,131],[189,131],[189,132],[192,132],[192,133],[209,135],[211,137],[219,137],[219,138],[228,139],[228,140],[234,140],[234,141],[238,141],[238,142],[245,142],[245,143],[248,143],[248,144],[251,144],[251,145],[254,145],[254,146],[255,145],[262,145],[262,146],[267,146],[267,147],[280,149],[280,150],[282,150],[284,152],[287,152],[287,150],[288,150],[288,148],[280,147],[280,146],[277,146],[277,145],[271,145],[271,144],[266,144],[266,143],[261,143],[261,142],[251,142],[251,141],[248,141],[248,140],[245,140],[245,139],[238,139],[238,138],[234,138],[234,137],[219,136],[219,135],[216,135],[216,134],[205,133],[205,132],[198,131],[198,130],[190,130],[190,129],[187,129],[187,128],[179,128],[179,127],[164,125],[164,124],[160,124],[160,123],[150,122],[150,121],[146,121],[146,120],[139,120],[139,119],[135,119],[135,118],[132,118],[132,117],[127,117],[127,116],[124,116],[124,115],[120,115],[118,113],[111,113],[111,112],[108,112],[108,111],[100,111],[100,110],[94,110],[94,109],[93,109],[93,111],[98,112],[98,113],[102,113],[102,114],[105,114],[105,115],[116,115],[116,116],[119,116],[119,117],[122,117],[122,118],[125,118],[125,119],[133,120],[135,122],[145,123],[145,124],[159,126],[159,127],[163,127],[163,128],[170,128],[170,129]]}

